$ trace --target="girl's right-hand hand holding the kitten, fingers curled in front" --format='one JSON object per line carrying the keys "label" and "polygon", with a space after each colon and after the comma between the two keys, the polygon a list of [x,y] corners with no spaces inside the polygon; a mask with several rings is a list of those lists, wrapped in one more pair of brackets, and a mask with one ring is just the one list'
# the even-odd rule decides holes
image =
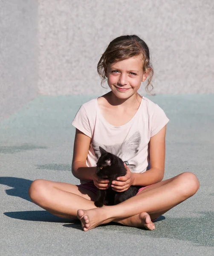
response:
{"label": "girl's right-hand hand holding the kitten, fingers curled in front", "polygon": [[111,187],[114,191],[124,192],[133,184],[132,173],[125,163],[124,166],[126,169],[126,175],[117,177],[117,180],[112,181]]}

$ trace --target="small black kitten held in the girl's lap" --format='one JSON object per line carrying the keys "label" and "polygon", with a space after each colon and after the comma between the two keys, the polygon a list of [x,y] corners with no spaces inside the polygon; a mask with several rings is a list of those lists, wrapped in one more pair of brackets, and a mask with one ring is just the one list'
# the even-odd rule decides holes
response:
{"label": "small black kitten held in the girl's lap", "polygon": [[[107,177],[111,185],[112,181],[116,180],[117,177],[126,175],[126,169],[121,158],[105,151],[101,147],[99,148],[101,157],[97,162],[96,175],[101,178]],[[140,188],[140,186],[130,186],[124,192],[116,192],[110,185],[108,189],[98,189],[98,199],[94,203],[96,207],[102,207],[104,204],[119,204],[136,195]]]}

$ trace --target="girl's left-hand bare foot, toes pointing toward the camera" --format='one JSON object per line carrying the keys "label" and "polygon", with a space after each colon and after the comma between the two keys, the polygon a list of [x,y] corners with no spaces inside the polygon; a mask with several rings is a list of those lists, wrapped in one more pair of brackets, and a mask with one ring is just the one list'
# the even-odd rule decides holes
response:
{"label": "girl's left-hand bare foot, toes pointing toward the camera", "polygon": [[77,211],[77,217],[81,221],[81,225],[84,231],[88,231],[101,224],[110,222],[110,220],[105,219],[103,208],[105,207],[94,208],[90,210],[79,209]]}

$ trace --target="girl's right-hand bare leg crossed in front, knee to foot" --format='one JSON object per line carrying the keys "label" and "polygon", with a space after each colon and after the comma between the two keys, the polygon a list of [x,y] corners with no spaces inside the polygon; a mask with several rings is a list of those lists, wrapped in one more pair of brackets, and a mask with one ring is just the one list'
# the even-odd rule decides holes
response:
{"label": "girl's right-hand bare leg crossed in front, knee to foot", "polygon": [[79,209],[78,218],[84,231],[110,221],[142,227],[149,224],[147,222],[151,219],[157,218],[194,195],[198,189],[197,177],[190,172],[185,172],[149,186],[121,204],[90,210]]}

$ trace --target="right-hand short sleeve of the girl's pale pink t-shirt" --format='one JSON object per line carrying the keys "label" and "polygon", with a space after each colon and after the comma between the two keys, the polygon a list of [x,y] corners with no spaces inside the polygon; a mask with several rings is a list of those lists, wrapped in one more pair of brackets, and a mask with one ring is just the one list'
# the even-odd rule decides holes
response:
{"label": "right-hand short sleeve of the girl's pale pink t-shirt", "polygon": [[159,107],[159,105],[156,104],[151,118],[150,137],[157,134],[168,122],[169,119],[165,112]]}

